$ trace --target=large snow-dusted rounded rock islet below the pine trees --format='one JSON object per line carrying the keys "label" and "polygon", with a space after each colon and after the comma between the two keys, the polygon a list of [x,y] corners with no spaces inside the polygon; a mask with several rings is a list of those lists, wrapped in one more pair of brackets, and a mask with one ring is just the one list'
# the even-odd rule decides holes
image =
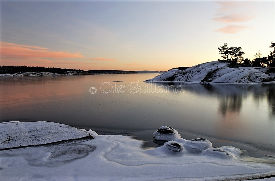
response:
{"label": "large snow-dusted rounded rock islet below the pine trees", "polygon": [[186,70],[173,69],[147,81],[182,81],[195,83],[275,83],[275,73],[268,68],[230,68],[230,63],[207,62]]}

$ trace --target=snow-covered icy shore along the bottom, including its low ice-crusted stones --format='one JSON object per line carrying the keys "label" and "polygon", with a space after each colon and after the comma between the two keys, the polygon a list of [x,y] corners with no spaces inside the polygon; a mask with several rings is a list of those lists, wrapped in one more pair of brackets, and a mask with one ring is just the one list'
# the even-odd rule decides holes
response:
{"label": "snow-covered icy shore along the bottom, including its low ice-crusted stones", "polygon": [[234,180],[275,175],[274,158],[247,161],[245,151],[212,148],[202,138],[175,137],[142,149],[144,142],[130,136],[81,131],[94,139],[0,151],[1,180]]}

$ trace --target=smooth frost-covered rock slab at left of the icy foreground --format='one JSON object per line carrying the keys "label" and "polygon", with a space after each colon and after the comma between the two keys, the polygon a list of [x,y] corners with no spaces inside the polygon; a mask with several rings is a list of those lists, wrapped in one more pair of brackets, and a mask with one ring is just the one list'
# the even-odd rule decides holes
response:
{"label": "smooth frost-covered rock slab at left of the icy foreground", "polygon": [[[93,138],[75,127],[46,121],[0,123],[0,150],[42,145],[70,139]],[[22,136],[24,135],[24,136]]]}

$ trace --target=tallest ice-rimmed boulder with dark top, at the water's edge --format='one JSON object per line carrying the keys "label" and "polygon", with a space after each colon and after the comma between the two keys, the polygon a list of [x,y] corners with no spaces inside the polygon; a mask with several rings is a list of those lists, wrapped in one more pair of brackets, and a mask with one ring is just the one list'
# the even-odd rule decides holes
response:
{"label": "tallest ice-rimmed boulder with dark top, at the water's edge", "polygon": [[153,133],[153,135],[154,139],[162,141],[173,141],[181,138],[181,134],[169,126],[161,126],[156,132]]}

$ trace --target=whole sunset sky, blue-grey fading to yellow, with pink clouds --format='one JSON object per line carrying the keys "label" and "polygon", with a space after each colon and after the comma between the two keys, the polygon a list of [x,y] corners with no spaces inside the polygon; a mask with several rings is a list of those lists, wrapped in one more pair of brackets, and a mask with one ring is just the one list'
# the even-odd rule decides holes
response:
{"label": "whole sunset sky, blue-grey fading to yellow, with pink clouds", "polygon": [[0,65],[157,70],[250,60],[275,42],[274,1],[0,0]]}

